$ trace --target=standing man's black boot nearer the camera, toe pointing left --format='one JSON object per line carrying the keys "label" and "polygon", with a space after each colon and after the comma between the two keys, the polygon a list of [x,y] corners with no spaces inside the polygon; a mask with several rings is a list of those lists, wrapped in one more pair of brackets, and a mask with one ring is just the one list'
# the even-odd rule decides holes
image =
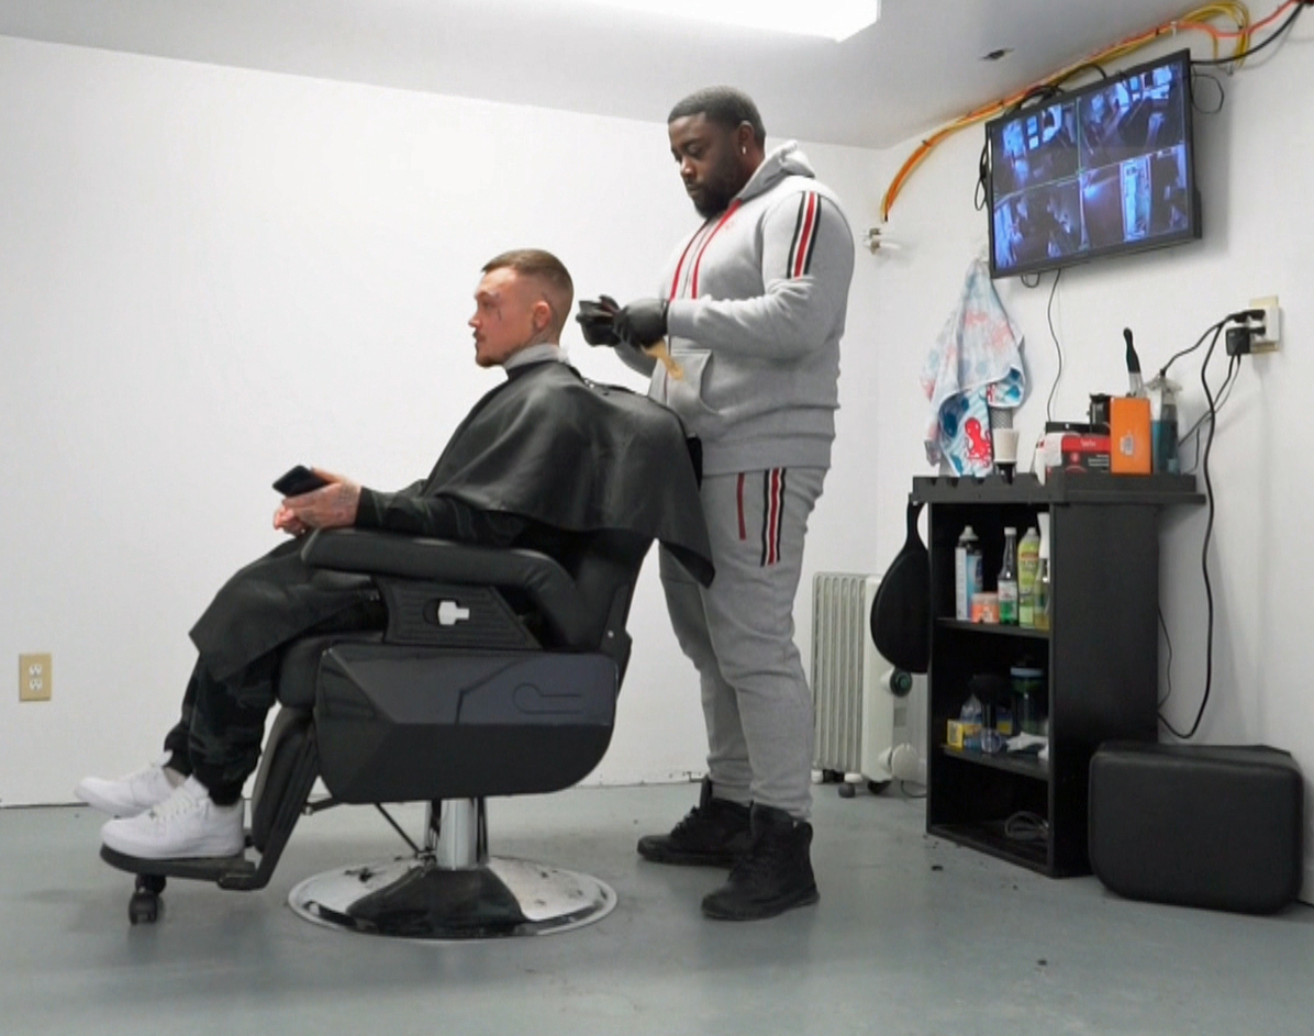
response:
{"label": "standing man's black boot nearer the camera, toe pointing left", "polygon": [[759,920],[815,903],[816,878],[808,847],[812,824],[784,810],[753,806],[753,844],[725,883],[703,899],[703,914],[717,920]]}

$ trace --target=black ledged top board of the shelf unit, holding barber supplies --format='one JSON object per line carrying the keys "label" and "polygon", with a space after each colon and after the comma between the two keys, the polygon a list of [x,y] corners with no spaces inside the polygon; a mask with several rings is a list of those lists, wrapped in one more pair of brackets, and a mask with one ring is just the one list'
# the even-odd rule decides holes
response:
{"label": "black ledged top board of the shelf unit, holding barber supplies", "polygon": [[1007,481],[1000,475],[984,479],[918,476],[909,498],[924,504],[1204,504],[1194,475],[1081,475],[1050,472],[1045,485],[1034,475]]}

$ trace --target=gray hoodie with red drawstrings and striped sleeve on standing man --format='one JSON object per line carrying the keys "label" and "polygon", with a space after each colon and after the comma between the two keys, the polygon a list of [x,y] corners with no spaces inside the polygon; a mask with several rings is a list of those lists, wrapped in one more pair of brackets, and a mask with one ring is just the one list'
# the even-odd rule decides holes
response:
{"label": "gray hoodie with red drawstrings and striped sleeve on standing man", "polygon": [[648,394],[703,440],[707,475],[828,468],[851,277],[848,220],[790,142],[662,272],[683,379],[637,350],[618,352],[652,373]]}

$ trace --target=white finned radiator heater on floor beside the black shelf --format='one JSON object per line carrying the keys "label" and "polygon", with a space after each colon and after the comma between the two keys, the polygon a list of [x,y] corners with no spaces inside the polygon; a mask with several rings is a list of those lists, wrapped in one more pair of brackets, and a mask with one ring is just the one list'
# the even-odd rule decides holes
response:
{"label": "white finned radiator heater on floor beside the black shelf", "polygon": [[871,640],[879,585],[879,576],[849,572],[812,577],[813,766],[850,780],[916,780],[915,678],[886,661]]}

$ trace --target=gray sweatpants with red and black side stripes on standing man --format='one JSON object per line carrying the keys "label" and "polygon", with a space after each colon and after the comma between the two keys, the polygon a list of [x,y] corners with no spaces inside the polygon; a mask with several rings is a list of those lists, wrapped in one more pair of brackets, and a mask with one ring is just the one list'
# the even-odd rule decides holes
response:
{"label": "gray sweatpants with red and black side stripes on standing man", "polygon": [[794,643],[794,597],[824,468],[703,480],[716,578],[699,586],[666,551],[671,626],[702,684],[715,794],[807,819],[812,809],[812,692]]}

